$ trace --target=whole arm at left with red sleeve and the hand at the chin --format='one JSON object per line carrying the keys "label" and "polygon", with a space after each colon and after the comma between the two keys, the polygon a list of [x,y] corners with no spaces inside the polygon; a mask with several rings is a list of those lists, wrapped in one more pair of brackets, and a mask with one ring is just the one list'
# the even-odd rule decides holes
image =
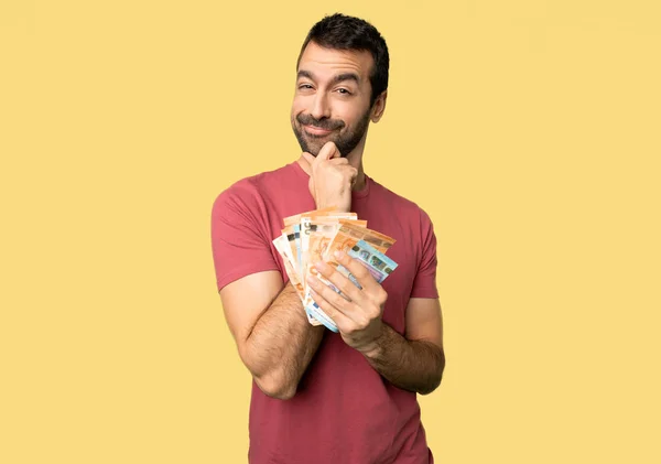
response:
{"label": "whole arm at left with red sleeve and the hand at the chin", "polygon": [[[317,207],[342,205],[349,211],[357,171],[333,142],[316,158],[305,153],[302,165],[308,173],[316,172],[308,187]],[[325,328],[307,322],[293,287],[283,289],[280,273],[269,270],[275,266],[263,236],[256,233],[258,220],[245,206],[250,199],[249,195],[239,201],[221,195],[214,205],[212,234],[218,282],[229,281],[227,276],[236,274],[237,269],[245,272],[245,277],[218,288],[239,356],[256,384],[271,397],[288,399],[296,392]],[[248,268],[251,272],[246,272]]]}

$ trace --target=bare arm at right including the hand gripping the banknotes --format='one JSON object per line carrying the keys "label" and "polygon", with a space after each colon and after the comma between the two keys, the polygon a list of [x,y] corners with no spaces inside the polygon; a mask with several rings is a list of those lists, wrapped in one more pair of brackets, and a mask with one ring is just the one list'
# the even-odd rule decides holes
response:
{"label": "bare arm at right including the hand gripping the banknotes", "polygon": [[312,296],[337,324],[345,343],[360,352],[386,379],[399,388],[430,393],[438,387],[445,367],[443,324],[438,299],[412,298],[407,306],[405,337],[382,322],[388,294],[354,258],[342,252],[360,289],[332,266],[318,262],[319,273],[342,291],[339,295],[315,277]]}

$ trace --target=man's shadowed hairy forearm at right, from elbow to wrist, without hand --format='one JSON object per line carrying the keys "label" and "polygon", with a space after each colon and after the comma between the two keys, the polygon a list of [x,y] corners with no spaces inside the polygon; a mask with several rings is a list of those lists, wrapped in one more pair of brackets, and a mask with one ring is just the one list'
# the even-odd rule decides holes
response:
{"label": "man's shadowed hairy forearm at right, from elbow to wrist, without hand", "polygon": [[364,355],[369,364],[395,387],[427,395],[441,385],[445,355],[424,341],[408,341],[383,323],[382,331]]}

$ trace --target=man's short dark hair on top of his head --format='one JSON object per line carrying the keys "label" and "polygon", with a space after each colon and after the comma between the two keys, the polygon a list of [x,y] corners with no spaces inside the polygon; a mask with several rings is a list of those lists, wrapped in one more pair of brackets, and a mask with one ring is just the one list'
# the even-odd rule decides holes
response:
{"label": "man's short dark hair on top of his head", "polygon": [[390,56],[388,55],[388,45],[377,31],[377,29],[365,20],[345,14],[335,13],[325,17],[323,20],[312,26],[296,61],[296,69],[301,63],[301,56],[310,42],[336,50],[356,50],[370,52],[375,61],[375,66],[369,76],[371,84],[370,107],[388,88],[388,67],[390,66]]}

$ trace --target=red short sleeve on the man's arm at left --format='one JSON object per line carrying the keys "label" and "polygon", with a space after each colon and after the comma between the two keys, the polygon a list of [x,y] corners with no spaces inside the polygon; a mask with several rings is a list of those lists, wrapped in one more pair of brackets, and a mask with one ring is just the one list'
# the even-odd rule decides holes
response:
{"label": "red short sleeve on the man's arm at left", "polygon": [[259,203],[251,192],[230,187],[212,208],[212,248],[218,291],[251,273],[278,270],[271,244],[264,236]]}

